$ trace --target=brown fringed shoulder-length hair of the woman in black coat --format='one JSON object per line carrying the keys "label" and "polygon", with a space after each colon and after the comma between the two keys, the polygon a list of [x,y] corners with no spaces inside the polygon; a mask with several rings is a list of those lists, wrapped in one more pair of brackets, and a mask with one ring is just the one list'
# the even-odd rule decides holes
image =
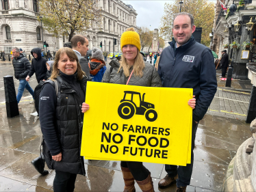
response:
{"label": "brown fringed shoulder-length hair of the woman in black coat", "polygon": [[66,53],[66,55],[70,58],[70,59],[75,59],[77,61],[77,79],[81,80],[83,79],[83,77],[86,75],[86,73],[81,70],[81,66],[79,64],[77,55],[75,54],[75,52],[68,48],[68,47],[62,47],[59,51],[57,51],[56,55],[55,55],[55,60],[53,63],[53,72],[51,73],[51,77],[50,79],[52,81],[54,81],[60,74],[59,74],[59,70],[57,68],[57,64],[60,61],[60,58],[62,57],[62,55]]}

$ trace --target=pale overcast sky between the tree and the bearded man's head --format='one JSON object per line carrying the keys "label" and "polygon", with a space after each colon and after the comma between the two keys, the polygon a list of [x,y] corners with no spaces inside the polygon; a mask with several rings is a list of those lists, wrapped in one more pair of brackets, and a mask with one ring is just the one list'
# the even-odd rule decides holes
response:
{"label": "pale overcast sky between the tree and the bearded man's head", "polygon": [[[211,1],[211,0],[210,0]],[[160,20],[164,14],[164,3],[174,3],[174,0],[167,1],[139,1],[139,0],[130,0],[123,2],[127,5],[132,5],[134,10],[138,13],[137,16],[137,26],[145,26],[149,29],[158,29],[160,26]],[[216,3],[216,0],[212,0]]]}

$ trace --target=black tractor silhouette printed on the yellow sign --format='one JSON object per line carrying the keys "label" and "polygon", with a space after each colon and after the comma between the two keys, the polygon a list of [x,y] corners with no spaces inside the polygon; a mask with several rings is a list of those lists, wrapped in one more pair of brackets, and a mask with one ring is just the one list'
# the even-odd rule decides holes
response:
{"label": "black tractor silhouette printed on the yellow sign", "polygon": [[118,107],[118,115],[124,120],[129,120],[136,115],[145,115],[146,120],[154,122],[157,119],[157,112],[154,110],[155,105],[144,102],[143,94],[142,99],[139,92],[125,91],[125,96],[120,100],[121,104]]}

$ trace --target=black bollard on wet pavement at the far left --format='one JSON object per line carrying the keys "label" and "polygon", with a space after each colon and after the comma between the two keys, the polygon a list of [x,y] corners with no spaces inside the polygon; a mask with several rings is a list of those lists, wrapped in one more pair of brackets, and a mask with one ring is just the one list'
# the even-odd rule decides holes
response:
{"label": "black bollard on wet pavement at the far left", "polygon": [[13,77],[10,75],[6,75],[5,77],[3,77],[3,82],[5,90],[5,105],[7,117],[13,118],[16,115],[19,115]]}

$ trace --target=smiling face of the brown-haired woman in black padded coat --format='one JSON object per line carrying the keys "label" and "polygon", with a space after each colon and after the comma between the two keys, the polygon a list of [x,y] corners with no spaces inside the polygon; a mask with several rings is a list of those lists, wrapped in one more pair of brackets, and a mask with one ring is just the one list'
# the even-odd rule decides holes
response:
{"label": "smiling face of the brown-haired woman in black padded coat", "polygon": [[77,60],[70,59],[66,53],[61,55],[60,60],[57,62],[57,68],[64,74],[75,74],[77,71]]}

